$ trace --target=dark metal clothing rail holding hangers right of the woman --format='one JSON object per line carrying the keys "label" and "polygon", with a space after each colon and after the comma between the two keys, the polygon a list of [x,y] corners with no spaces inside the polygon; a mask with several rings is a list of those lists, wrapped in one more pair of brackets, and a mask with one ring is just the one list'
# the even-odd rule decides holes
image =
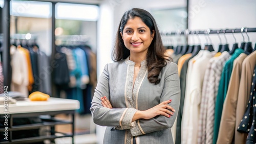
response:
{"label": "dark metal clothing rail holding hangers right of the woman", "polygon": [[256,28],[240,28],[240,29],[224,29],[224,30],[205,30],[205,31],[190,31],[188,29],[184,31],[175,31],[175,32],[162,32],[161,35],[190,35],[190,34],[226,34],[226,33],[250,33],[256,32]]}

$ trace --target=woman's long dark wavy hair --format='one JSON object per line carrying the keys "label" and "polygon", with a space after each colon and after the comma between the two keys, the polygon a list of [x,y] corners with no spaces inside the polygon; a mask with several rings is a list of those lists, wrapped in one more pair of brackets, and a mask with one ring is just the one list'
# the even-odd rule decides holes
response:
{"label": "woman's long dark wavy hair", "polygon": [[154,17],[146,10],[133,8],[123,14],[116,34],[116,43],[113,50],[113,60],[120,61],[130,56],[130,50],[125,47],[120,32],[123,33],[123,28],[127,21],[136,16],[141,18],[145,25],[150,28],[151,33],[153,33],[153,30],[155,31],[155,36],[150,46],[148,47],[146,62],[148,70],[148,81],[150,81],[150,83],[158,84],[160,82],[160,79],[158,78],[160,71],[164,66],[166,66],[166,60],[169,61],[169,59],[167,59],[164,55],[165,48],[163,46],[156,21]]}

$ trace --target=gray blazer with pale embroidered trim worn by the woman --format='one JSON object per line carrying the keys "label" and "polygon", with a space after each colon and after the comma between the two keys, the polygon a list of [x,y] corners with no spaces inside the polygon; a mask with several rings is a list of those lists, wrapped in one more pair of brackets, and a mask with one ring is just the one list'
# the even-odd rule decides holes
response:
{"label": "gray blazer with pale embroidered trim worn by the woman", "polygon": [[[90,108],[95,124],[107,126],[103,143],[174,143],[170,128],[175,122],[180,104],[180,82],[177,64],[167,62],[155,85],[147,80],[146,61],[141,62],[133,87],[133,61],[125,60],[106,64],[95,89]],[[106,96],[113,109],[101,105],[100,97]],[[151,119],[132,122],[136,111],[150,109],[159,103],[169,103],[176,112],[170,118],[158,115]]]}

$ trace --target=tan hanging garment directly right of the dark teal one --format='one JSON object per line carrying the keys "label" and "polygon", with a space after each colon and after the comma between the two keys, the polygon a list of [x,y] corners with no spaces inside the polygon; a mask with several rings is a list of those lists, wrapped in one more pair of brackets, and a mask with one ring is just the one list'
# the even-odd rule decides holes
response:
{"label": "tan hanging garment directly right of the dark teal one", "polygon": [[242,63],[247,57],[245,53],[234,60],[232,74],[229,81],[226,99],[224,101],[220,130],[217,143],[232,143],[234,129],[236,126],[236,109],[238,101],[238,90],[242,72]]}

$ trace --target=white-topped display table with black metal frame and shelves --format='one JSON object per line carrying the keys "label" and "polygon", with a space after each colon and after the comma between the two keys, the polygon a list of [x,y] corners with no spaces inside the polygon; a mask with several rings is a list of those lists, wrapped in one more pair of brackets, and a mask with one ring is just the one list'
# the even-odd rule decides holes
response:
{"label": "white-topped display table with black metal frame and shelves", "polygon": [[[6,105],[5,105],[6,106]],[[72,137],[72,143],[74,143],[74,114],[75,110],[79,109],[79,101],[70,99],[50,98],[48,101],[17,101],[16,104],[8,105],[8,113],[6,113],[4,105],[0,105],[1,118],[8,114],[8,141],[2,141],[0,143],[30,143],[43,141],[45,139],[54,140],[61,137]],[[71,114],[72,121],[63,121],[55,119],[56,114]],[[35,117],[39,116],[42,123],[30,124],[30,125],[18,125],[13,126],[13,118],[17,117]],[[55,125],[71,124],[72,134],[65,134],[56,132]],[[29,137],[21,139],[12,139],[12,131],[18,130],[31,130],[38,129],[40,127],[50,126],[51,134]],[[5,127],[0,127],[0,132],[4,132]],[[57,134],[60,133],[60,134]],[[57,135],[56,135],[57,134]],[[2,136],[1,136],[2,137]]]}

